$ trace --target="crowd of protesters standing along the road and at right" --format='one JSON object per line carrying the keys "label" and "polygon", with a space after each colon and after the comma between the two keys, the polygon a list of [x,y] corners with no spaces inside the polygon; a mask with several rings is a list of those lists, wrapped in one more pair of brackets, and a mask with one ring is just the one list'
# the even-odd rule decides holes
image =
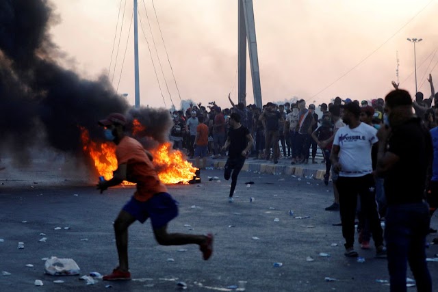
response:
{"label": "crowd of protesters standing along the road and at right", "polygon": [[[393,81],[395,90],[385,100],[337,96],[328,105],[318,105],[320,116],[315,105],[307,106],[304,99],[257,107],[235,105],[229,96],[229,108],[212,102],[208,109],[198,104],[185,113],[173,112],[171,140],[175,148],[185,148],[190,157],[196,157],[198,168],[199,158],[205,167],[207,155],[214,159],[225,155],[233,137],[228,134],[230,124],[248,129],[244,132],[248,146],[240,143],[244,150],[237,153],[239,157],[244,153],[272,163],[279,159],[290,159],[291,164],[318,163],[315,157],[320,148],[326,166],[324,183],[328,185],[331,178],[335,197],[326,210],[340,212],[345,255],[358,256],[354,249],[357,217],[361,248],[369,249],[372,238],[376,256],[388,257],[391,291],[405,291],[407,263],[417,284],[422,283],[419,289],[431,291],[424,248],[426,235],[437,232],[430,227],[430,217],[438,208],[438,93],[431,75],[428,82],[428,98],[416,92],[412,101],[409,92],[398,89]],[[438,243],[438,237],[434,242]]]}

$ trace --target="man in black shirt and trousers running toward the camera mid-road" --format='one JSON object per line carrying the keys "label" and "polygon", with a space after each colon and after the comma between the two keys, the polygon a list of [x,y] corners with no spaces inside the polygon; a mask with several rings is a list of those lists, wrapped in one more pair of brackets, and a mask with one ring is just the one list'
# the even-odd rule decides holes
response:
{"label": "man in black shirt and trousers running toward the camera mid-road", "polygon": [[[240,124],[240,115],[237,113],[231,114],[229,118],[230,129],[228,132],[227,142],[222,147],[222,150],[228,150],[228,160],[225,163],[224,178],[228,181],[231,176],[231,189],[229,202],[234,202],[233,194],[235,185],[237,184],[237,176],[244,166],[248,151],[253,146],[253,136],[249,133],[248,128]],[[231,174],[231,172],[233,174]]]}

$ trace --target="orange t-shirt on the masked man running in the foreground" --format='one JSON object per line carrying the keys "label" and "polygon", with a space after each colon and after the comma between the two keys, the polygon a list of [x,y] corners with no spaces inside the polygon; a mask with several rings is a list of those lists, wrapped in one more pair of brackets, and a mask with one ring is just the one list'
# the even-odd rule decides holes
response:
{"label": "orange t-shirt on the masked man running in the foreground", "polygon": [[137,184],[134,198],[146,202],[154,194],[167,192],[167,187],[159,181],[152,161],[137,140],[125,136],[116,146],[117,163],[127,164],[127,181]]}

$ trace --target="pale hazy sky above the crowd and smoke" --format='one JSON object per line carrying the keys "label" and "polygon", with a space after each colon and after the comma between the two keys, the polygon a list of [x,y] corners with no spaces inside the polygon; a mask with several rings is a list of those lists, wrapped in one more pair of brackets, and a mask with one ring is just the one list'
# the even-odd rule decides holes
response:
{"label": "pale hazy sky above the crowd and smoke", "polygon": [[[117,55],[113,85],[118,86],[120,94],[129,94],[127,98],[133,104],[133,28],[123,71],[120,68],[133,0],[126,0],[119,49],[125,0],[121,3],[118,22],[120,0],[52,0],[52,3],[60,22],[51,28],[51,34],[66,53],[60,62],[66,68],[74,68],[82,77],[96,79],[108,74],[118,23],[110,80]],[[154,3],[181,99],[190,98],[204,105],[216,101],[222,107],[229,107],[227,96],[231,92],[237,101],[237,0],[155,0]],[[179,94],[151,0],[138,0],[138,10],[164,98],[139,19],[140,104],[172,105],[144,4],[170,96],[179,107]],[[391,90],[391,80],[396,80],[397,51],[400,88],[415,94],[413,44],[407,38],[423,38],[416,45],[419,91],[425,96],[430,94],[426,81],[430,72],[438,88],[438,30],[434,21],[438,0],[255,0],[253,5],[263,103],[289,100],[293,96],[318,104],[328,103],[335,96],[359,100],[384,97]],[[249,72],[247,79],[246,102],[253,103]]]}

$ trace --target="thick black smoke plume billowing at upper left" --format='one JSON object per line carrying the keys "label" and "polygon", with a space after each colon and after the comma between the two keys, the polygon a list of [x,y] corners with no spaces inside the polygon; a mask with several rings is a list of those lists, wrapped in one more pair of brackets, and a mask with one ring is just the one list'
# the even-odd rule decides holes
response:
{"label": "thick black smoke plume billowing at upper left", "polygon": [[97,120],[129,109],[106,77],[89,81],[57,64],[48,33],[57,20],[46,0],[0,1],[0,148],[14,158],[41,141],[79,155],[79,127],[99,137]]}

